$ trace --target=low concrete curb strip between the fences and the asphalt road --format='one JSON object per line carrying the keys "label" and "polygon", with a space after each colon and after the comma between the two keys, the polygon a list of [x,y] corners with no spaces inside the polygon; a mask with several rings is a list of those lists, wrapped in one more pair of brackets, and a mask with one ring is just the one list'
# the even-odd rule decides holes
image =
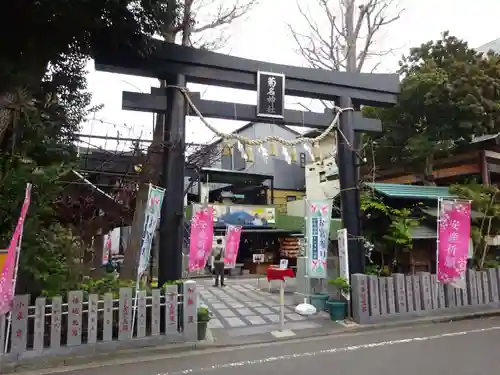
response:
{"label": "low concrete curb strip between the fences and the asphalt road", "polygon": [[[200,355],[214,349],[224,349],[224,348],[243,349],[247,346],[252,346],[252,345],[286,343],[289,341],[294,341],[304,338],[308,339],[321,338],[321,337],[335,338],[336,336],[370,332],[370,331],[379,331],[390,328],[398,328],[398,327],[409,328],[420,325],[458,322],[465,320],[489,318],[495,316],[500,316],[500,309],[474,312],[474,313],[461,313],[461,314],[449,314],[449,315],[434,316],[434,317],[424,317],[414,320],[383,322],[383,323],[375,323],[363,326],[360,325],[352,328],[344,328],[334,331],[329,330],[324,332],[315,332],[307,336],[292,336],[281,339],[269,337],[265,339],[257,339],[254,341],[246,341],[240,343],[238,343],[237,341],[229,343],[228,342],[218,343],[217,340],[210,340],[209,338],[209,340],[199,343],[168,344],[168,345],[154,346],[154,347],[123,349],[117,352],[104,353],[101,355],[85,355],[85,356],[65,357],[65,358],[41,357],[36,360],[31,359],[28,361],[19,361],[18,363],[4,364],[1,368],[0,373],[25,372],[25,373],[35,374],[34,370],[36,370],[37,374],[51,374],[52,369],[58,369],[59,370],[58,372],[62,372],[64,371],[64,368],[67,368],[67,371],[72,371],[72,370],[82,369],[82,367],[84,366],[85,368],[100,368],[100,367],[111,366],[114,364],[113,362],[116,362],[120,359],[130,358],[131,355],[134,355],[137,361],[149,362],[158,359],[157,357],[160,355],[175,355],[181,353],[190,353],[190,355]],[[211,336],[210,333],[209,335]]]}

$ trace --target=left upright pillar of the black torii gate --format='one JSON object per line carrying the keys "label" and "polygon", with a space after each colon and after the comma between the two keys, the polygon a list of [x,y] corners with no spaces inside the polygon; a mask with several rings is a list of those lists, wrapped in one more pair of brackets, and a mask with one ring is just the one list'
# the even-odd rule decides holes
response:
{"label": "left upright pillar of the black torii gate", "polygon": [[[168,85],[185,87],[186,77],[180,74],[167,80]],[[183,93],[167,87],[167,113],[163,134],[163,177],[166,189],[161,207],[160,251],[158,254],[158,285],[182,277],[182,246],[184,234],[184,156],[186,102]]]}

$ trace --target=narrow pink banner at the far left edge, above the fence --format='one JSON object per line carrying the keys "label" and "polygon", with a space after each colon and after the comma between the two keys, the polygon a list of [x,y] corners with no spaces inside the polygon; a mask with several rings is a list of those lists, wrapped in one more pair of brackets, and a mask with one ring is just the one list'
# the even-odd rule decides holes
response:
{"label": "narrow pink banner at the far left edge, above the fence", "polygon": [[31,202],[31,184],[26,186],[21,215],[17,221],[16,229],[10,240],[7,258],[2,268],[2,279],[0,280],[0,314],[7,314],[12,309],[14,300],[14,288],[17,272],[17,257],[21,251],[21,237],[23,234],[24,219],[28,213],[28,207]]}

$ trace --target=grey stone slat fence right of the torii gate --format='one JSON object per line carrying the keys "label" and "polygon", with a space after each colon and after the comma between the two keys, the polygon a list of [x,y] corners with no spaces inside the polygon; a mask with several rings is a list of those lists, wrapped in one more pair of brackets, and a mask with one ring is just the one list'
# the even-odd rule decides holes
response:
{"label": "grey stone slat fence right of the torii gate", "polygon": [[500,270],[468,271],[466,288],[437,283],[436,275],[394,274],[351,278],[353,317],[359,324],[474,313],[500,308]]}

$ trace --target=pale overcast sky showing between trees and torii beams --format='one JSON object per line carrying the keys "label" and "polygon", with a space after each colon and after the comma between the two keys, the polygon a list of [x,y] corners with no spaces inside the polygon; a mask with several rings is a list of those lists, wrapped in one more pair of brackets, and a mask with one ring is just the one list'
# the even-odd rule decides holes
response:
{"label": "pale overcast sky showing between trees and torii beams", "polygon": [[[219,0],[228,1],[229,0]],[[305,66],[305,61],[296,52],[296,45],[288,31],[287,24],[292,24],[304,32],[304,24],[296,10],[295,0],[260,0],[261,4],[253,9],[247,18],[231,25],[228,32],[231,38],[220,52],[230,53],[244,58],[268,61],[279,64]],[[313,3],[315,0],[303,0]],[[364,1],[363,1],[364,2]],[[333,1],[332,1],[333,3]],[[358,1],[358,3],[362,3]],[[393,56],[386,56],[381,61],[378,72],[394,72],[401,54],[412,46],[417,46],[430,39],[437,39],[440,33],[449,30],[452,35],[464,38],[471,46],[477,47],[500,37],[500,32],[492,30],[500,14],[500,2],[494,0],[402,0],[404,8],[401,19],[385,27],[377,37],[376,48],[397,49]],[[314,12],[314,9],[312,9]],[[315,18],[321,14],[314,13]],[[95,118],[84,124],[83,134],[141,137],[151,139],[153,116],[121,109],[122,91],[149,92],[151,86],[157,86],[156,80],[133,76],[95,72],[93,63],[89,64],[89,89],[93,93],[94,104],[103,104],[104,108]],[[227,102],[255,104],[255,93],[232,89],[190,86],[191,90],[203,92],[203,98]],[[300,109],[296,98],[287,97],[287,107]],[[303,104],[313,110],[321,110],[318,103],[304,99]],[[231,132],[242,123],[224,120],[209,120],[211,124],[224,132]],[[187,121],[187,141],[207,142],[213,134],[195,118]],[[83,139],[91,144],[107,149],[124,150],[129,144],[114,141]]]}

